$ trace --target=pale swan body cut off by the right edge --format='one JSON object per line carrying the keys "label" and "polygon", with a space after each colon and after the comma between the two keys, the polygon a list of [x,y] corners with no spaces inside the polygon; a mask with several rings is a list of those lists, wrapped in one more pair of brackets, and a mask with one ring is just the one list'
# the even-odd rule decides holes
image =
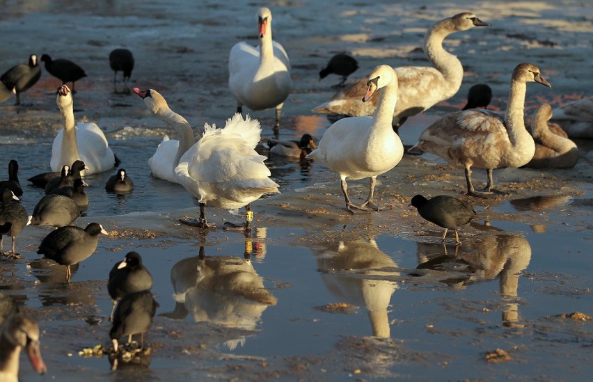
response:
{"label": "pale swan body cut off by the right edge", "polygon": [[569,137],[593,138],[593,97],[560,106],[553,114],[552,121],[558,123]]}

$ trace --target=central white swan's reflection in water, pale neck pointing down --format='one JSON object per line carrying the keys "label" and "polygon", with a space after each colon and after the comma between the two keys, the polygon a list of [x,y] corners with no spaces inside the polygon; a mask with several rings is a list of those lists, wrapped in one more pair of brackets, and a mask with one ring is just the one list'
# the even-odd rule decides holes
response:
{"label": "central white swan's reflection in water, pale neck pointing down", "polygon": [[390,337],[388,307],[397,283],[386,276],[393,271],[393,259],[377,247],[374,239],[342,241],[315,250],[317,267],[327,289],[336,299],[364,306],[374,337]]}

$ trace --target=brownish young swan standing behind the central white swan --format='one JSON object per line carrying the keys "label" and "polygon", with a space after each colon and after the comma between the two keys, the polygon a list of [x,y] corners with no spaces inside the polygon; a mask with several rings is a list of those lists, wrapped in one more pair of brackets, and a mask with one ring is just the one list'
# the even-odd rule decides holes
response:
{"label": "brownish young swan standing behind the central white swan", "polygon": [[[397,105],[393,111],[393,126],[402,125],[406,118],[425,111],[438,102],[448,100],[457,93],[464,79],[464,67],[457,56],[443,49],[443,40],[458,31],[467,31],[474,26],[489,26],[473,13],[459,13],[434,24],[426,33],[424,51],[434,67],[401,66],[395,67],[400,88]],[[331,100],[321,104],[314,113],[339,114],[345,116],[372,116],[377,101],[361,104],[360,99],[367,89],[367,80],[346,86]]]}

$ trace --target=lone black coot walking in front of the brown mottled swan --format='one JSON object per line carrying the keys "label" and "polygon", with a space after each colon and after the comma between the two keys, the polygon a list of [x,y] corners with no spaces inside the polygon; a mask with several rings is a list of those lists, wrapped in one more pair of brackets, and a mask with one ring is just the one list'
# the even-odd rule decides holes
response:
{"label": "lone black coot walking in front of the brown mottled swan", "polygon": [[452,196],[439,195],[428,200],[422,195],[416,195],[412,198],[412,205],[418,209],[418,214],[422,218],[445,228],[443,241],[447,231],[454,230],[456,244],[461,244],[459,234],[457,234],[459,225],[467,224],[473,218],[477,218],[472,205]]}

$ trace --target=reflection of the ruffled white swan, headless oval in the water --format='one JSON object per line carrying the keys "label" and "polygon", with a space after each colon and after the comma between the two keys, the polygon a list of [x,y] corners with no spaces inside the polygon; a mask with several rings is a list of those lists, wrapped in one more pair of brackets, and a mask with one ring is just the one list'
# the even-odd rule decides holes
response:
{"label": "reflection of the ruffled white swan, headless oval in the water", "polygon": [[[276,305],[276,297],[264,287],[251,260],[231,256],[200,255],[180,260],[171,269],[175,310],[166,317],[255,330],[264,310]],[[243,345],[244,337],[226,342],[230,350]]]}

